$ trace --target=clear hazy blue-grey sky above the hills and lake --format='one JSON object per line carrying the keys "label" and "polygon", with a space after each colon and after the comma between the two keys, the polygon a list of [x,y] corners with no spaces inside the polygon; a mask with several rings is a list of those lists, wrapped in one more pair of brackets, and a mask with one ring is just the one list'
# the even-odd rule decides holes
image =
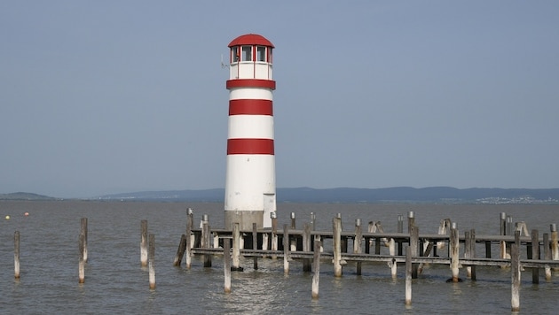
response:
{"label": "clear hazy blue-grey sky above the hills and lake", "polygon": [[559,188],[556,1],[2,1],[0,194],[224,188],[227,45],[278,188]]}

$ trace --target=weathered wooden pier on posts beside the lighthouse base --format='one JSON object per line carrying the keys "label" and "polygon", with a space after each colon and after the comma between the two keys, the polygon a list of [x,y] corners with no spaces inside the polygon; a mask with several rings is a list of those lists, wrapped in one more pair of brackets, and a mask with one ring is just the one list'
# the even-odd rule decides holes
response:
{"label": "weathered wooden pier on posts beside the lighthouse base", "polygon": [[[441,220],[438,234],[425,234],[420,233],[410,212],[407,231],[404,232],[403,216],[399,215],[398,231],[389,233],[383,231],[380,222],[369,222],[367,230],[363,231],[360,219],[356,219],[353,231],[342,231],[342,219],[338,214],[332,219],[332,230],[317,231],[312,222],[304,224],[303,229],[296,228],[292,213],[291,224],[283,228],[278,228],[277,219],[272,217],[272,228],[256,229],[254,225],[251,231],[240,231],[238,224],[232,230],[210,229],[207,215],[202,217],[200,228],[193,228],[193,212],[188,211],[186,234],[183,234],[187,242],[180,242],[175,265],[181,264],[183,253],[186,253],[187,268],[191,266],[189,256],[194,255],[202,255],[204,267],[210,267],[211,257],[222,256],[227,249],[229,254],[224,259],[228,262],[227,257],[232,257],[231,271],[243,270],[241,256],[254,257],[254,269],[257,269],[258,258],[283,258],[284,273],[289,273],[290,262],[300,262],[303,272],[312,272],[312,264],[317,270],[320,262],[328,262],[334,266],[335,277],[342,276],[342,266],[350,262],[356,265],[357,274],[361,274],[362,264],[386,263],[390,267],[387,273],[390,270],[392,277],[397,276],[398,265],[405,265],[406,278],[410,279],[418,277],[424,264],[449,265],[451,273],[447,282],[462,281],[460,269],[467,270],[467,279],[476,280],[476,266],[510,268],[511,309],[515,311],[520,307],[520,271],[531,268],[534,284],[539,283],[540,270],[545,270],[545,278],[550,280],[551,271],[559,268],[559,242],[555,224],[550,225],[549,234],[539,236],[537,230],[528,234],[524,222],[516,223],[513,228],[507,219],[501,213],[499,235],[476,234],[473,229],[460,234],[450,219]],[[484,248],[484,255],[476,253],[480,247]],[[492,252],[495,248],[499,253]],[[318,279],[315,273],[313,298],[319,296]],[[230,281],[230,277],[226,277],[227,280]],[[408,300],[407,282],[406,304],[411,303],[411,287]],[[225,291],[231,291],[230,282],[225,283]]]}

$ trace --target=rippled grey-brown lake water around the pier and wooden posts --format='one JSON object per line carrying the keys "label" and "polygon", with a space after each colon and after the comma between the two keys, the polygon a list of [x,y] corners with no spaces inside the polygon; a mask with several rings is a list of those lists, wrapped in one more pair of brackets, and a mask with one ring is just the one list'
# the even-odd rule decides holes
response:
{"label": "rippled grey-brown lake water around the pier and wooden posts", "polygon": [[[223,227],[223,204],[118,203],[118,202],[0,202],[0,312],[20,314],[96,313],[508,313],[510,271],[477,267],[477,280],[446,283],[450,270],[431,265],[413,280],[413,304],[406,307],[404,268],[392,279],[386,265],[343,268],[336,279],[332,265],[320,266],[320,297],[311,299],[311,273],[299,262],[283,273],[283,259],[242,259],[243,273],[232,273],[232,293],[224,294],[221,257],[212,268],[203,268],[201,257],[185,270],[173,266],[180,235],[185,231],[187,207],[194,209],[195,225],[209,214],[210,226]],[[499,234],[500,212],[513,221],[526,222],[539,234],[559,221],[559,205],[440,205],[440,204],[279,204],[279,227],[290,223],[295,212],[297,227],[317,216],[317,228],[330,230],[332,218],[342,213],[344,230],[353,230],[355,219],[364,226],[382,221],[385,232],[396,232],[398,214],[414,211],[421,233],[436,234],[441,219],[452,219],[466,231]],[[24,213],[28,212],[26,217]],[[10,215],[11,219],[4,217]],[[78,234],[80,219],[88,218],[89,261],[85,283],[78,284]],[[148,220],[155,234],[157,288],[149,289],[146,268],[139,264],[140,221]],[[21,278],[13,278],[13,233],[20,231]],[[483,246],[483,245],[479,245]],[[523,251],[524,248],[523,248]],[[477,253],[484,253],[480,247]],[[493,250],[493,255],[497,254]],[[482,254],[483,255],[483,254]],[[461,277],[466,278],[461,269]],[[551,281],[531,284],[531,271],[522,274],[521,311],[555,314],[559,275]]]}

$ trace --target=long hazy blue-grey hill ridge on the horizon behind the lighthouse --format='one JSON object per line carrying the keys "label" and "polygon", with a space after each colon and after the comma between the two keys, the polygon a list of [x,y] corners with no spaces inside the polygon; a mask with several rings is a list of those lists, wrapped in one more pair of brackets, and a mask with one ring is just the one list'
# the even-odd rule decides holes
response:
{"label": "long hazy blue-grey hill ridge on the horizon behind the lighthouse", "polygon": [[[277,188],[276,193],[279,203],[559,204],[559,188]],[[224,189],[143,191],[95,199],[223,202]]]}

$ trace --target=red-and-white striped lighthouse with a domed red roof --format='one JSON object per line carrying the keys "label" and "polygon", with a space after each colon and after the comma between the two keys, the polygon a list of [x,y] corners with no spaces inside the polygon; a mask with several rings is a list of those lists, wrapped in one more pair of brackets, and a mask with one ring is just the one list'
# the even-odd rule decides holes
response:
{"label": "red-and-white striped lighthouse with a domed red roof", "polygon": [[229,43],[229,118],[225,173],[225,227],[272,227],[276,211],[272,42],[256,34]]}

